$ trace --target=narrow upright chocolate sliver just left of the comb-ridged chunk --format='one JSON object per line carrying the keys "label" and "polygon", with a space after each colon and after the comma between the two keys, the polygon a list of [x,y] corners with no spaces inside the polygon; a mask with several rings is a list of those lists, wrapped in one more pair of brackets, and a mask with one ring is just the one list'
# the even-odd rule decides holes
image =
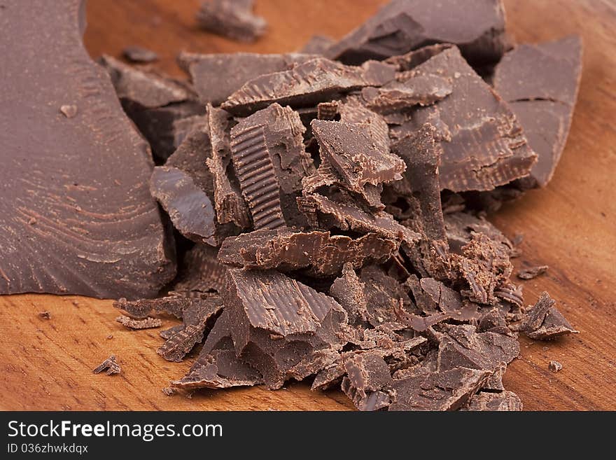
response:
{"label": "narrow upright chocolate sliver just left of the comb-ridged chunk", "polygon": [[240,228],[248,228],[251,226],[250,211],[241,196],[235,172],[232,172],[230,121],[227,112],[208,105],[211,158],[207,158],[206,163],[214,176],[216,220],[221,224],[233,222]]}

